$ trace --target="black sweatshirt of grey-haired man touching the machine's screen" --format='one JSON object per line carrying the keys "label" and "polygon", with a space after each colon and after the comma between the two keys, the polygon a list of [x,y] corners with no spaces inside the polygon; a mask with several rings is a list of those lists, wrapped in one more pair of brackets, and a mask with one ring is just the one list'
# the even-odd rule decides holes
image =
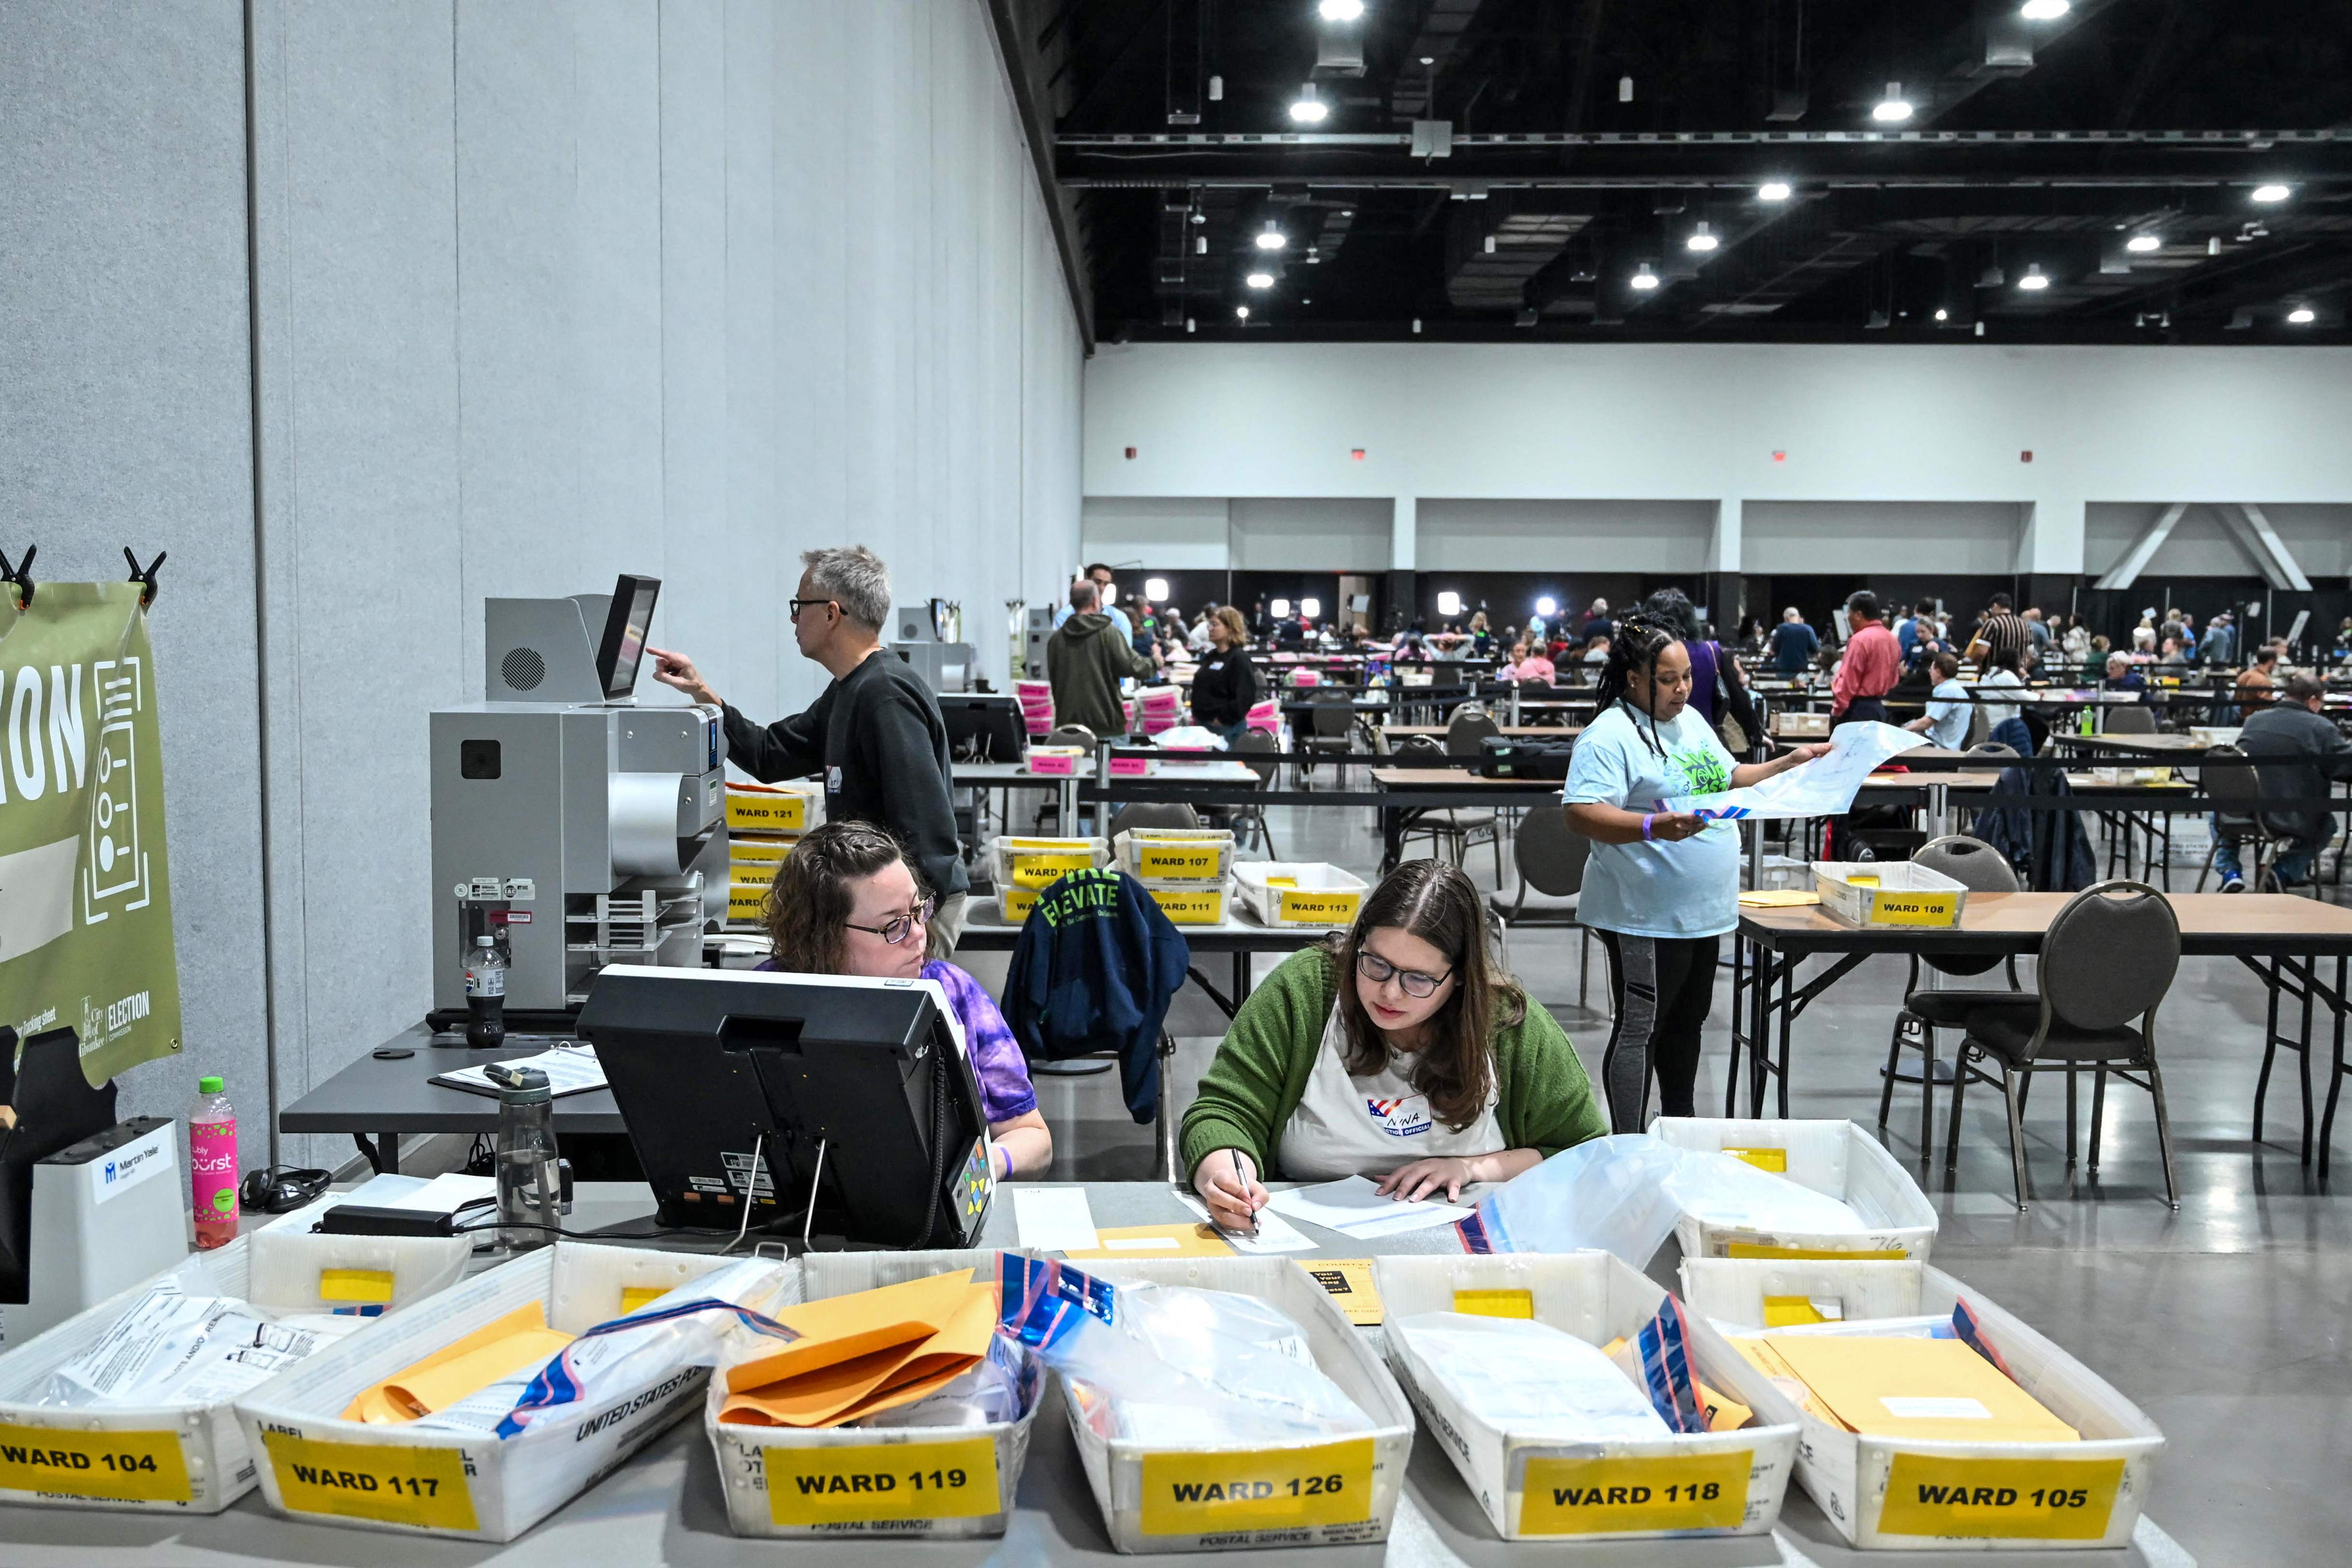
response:
{"label": "black sweatshirt of grey-haired man touching the machine's screen", "polygon": [[948,795],[948,726],[906,661],[877,649],[807,712],[760,726],[727,708],[727,759],[762,783],[826,773],[826,820],[889,827],[938,898],[971,889]]}

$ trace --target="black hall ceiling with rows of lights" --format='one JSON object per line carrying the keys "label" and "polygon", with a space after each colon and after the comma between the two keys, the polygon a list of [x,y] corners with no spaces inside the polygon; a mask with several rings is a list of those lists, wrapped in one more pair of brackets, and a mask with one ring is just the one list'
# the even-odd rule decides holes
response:
{"label": "black hall ceiling with rows of lights", "polygon": [[2352,341],[2352,0],[997,2],[1101,339]]}

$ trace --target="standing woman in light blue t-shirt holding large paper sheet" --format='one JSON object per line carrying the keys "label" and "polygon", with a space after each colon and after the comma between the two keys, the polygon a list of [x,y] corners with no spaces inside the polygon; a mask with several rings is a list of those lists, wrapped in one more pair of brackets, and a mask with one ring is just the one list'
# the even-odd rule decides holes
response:
{"label": "standing woman in light blue t-shirt holding large paper sheet", "polygon": [[1592,839],[1576,919],[1609,947],[1616,994],[1602,1058],[1609,1124],[1639,1133],[1653,1070],[1661,1112],[1696,1112],[1715,950],[1738,926],[1740,903],[1738,827],[1665,811],[1665,802],[1738,790],[1830,748],[1733,762],[1691,708],[1691,656],[1675,628],[1642,614],[1618,628],[1597,696],[1599,717],[1576,738],[1562,799],[1569,827]]}

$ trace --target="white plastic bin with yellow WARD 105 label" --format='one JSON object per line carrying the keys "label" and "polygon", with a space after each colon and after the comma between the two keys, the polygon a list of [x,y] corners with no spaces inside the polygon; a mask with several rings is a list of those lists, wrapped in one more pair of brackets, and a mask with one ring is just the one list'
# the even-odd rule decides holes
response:
{"label": "white plastic bin with yellow WARD 105 label", "polygon": [[[1870,1333],[1870,1319],[1947,1314],[1966,1298],[2018,1387],[2082,1432],[2079,1443],[1933,1443],[1863,1436],[1788,1403],[1740,1359],[1724,1392],[1795,1410],[1797,1483],[1865,1549],[2124,1547],[2147,1505],[2164,1434],[2107,1380],[1943,1269],[1842,1258],[1691,1258],[1691,1309],[1731,1331],[1764,1326],[1766,1295],[1839,1298],[1842,1324],[1776,1333]],[[2058,1507],[2051,1507],[2051,1500]]]}

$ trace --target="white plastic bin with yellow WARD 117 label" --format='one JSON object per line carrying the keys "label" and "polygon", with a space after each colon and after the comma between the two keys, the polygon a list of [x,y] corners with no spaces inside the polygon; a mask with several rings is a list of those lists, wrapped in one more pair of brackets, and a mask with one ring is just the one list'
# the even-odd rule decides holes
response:
{"label": "white plastic bin with yellow WARD 117 label", "polygon": [[[238,1401],[263,1497],[318,1523],[515,1540],[684,1415],[710,1371],[673,1371],[510,1439],[343,1420],[350,1401],[532,1300],[550,1328],[581,1333],[621,1316],[626,1291],[673,1291],[727,1262],[739,1260],[557,1241],[442,1293],[430,1312],[310,1356]],[[774,1267],[781,1288],[786,1265]],[[774,1298],[746,1305],[764,1312]]]}

